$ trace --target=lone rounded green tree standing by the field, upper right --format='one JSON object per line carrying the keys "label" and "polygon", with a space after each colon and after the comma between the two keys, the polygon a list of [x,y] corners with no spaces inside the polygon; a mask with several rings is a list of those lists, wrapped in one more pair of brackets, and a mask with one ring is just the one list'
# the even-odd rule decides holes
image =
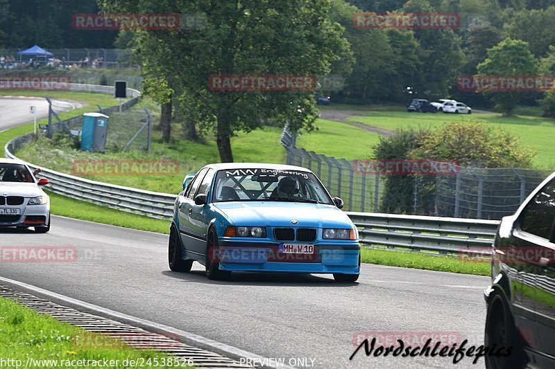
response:
{"label": "lone rounded green tree standing by the field, upper right", "polygon": [[[528,48],[528,43],[518,39],[504,39],[490,48],[487,58],[477,66],[478,75],[534,75],[537,71],[536,59]],[[519,91],[484,92],[490,95],[497,107],[506,116],[511,116],[522,96]]]}

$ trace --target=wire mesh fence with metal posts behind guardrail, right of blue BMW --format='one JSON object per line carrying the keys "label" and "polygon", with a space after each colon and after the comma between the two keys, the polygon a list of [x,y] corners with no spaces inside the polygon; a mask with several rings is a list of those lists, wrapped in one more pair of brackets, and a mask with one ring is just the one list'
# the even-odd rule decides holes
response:
{"label": "wire mesh fence with metal posts behind guardrail, right of blue BMW", "polygon": [[[358,163],[336,159],[298,148],[295,135],[284,128],[280,142],[286,150],[286,163],[312,170],[332,196],[345,202],[345,210],[357,212],[381,211],[386,196],[387,176],[357,170]],[[435,215],[473,219],[501,219],[517,210],[524,199],[552,171],[516,168],[464,168],[456,166],[454,175],[407,177],[412,215]],[[430,184],[434,196],[430,193]],[[399,196],[401,196],[399,194]],[[421,204],[429,201],[429,204]],[[424,210],[427,209],[427,210]]]}

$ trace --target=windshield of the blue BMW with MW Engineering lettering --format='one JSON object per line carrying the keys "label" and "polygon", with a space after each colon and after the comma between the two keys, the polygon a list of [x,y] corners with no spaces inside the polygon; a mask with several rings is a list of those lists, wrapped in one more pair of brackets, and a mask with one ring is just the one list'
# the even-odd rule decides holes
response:
{"label": "windshield of the blue BMW with MW Engineering lettering", "polygon": [[213,202],[296,201],[333,204],[314,174],[264,168],[220,170],[216,175],[212,196]]}

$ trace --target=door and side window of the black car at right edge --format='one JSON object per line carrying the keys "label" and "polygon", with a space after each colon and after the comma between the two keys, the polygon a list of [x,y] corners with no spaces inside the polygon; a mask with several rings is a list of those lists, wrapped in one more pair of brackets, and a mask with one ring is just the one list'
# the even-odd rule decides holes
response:
{"label": "door and side window of the black car at right edge", "polygon": [[[522,210],[513,232],[526,247],[519,281],[522,304],[533,318],[534,348],[555,357],[555,179],[541,188]],[[526,335],[525,335],[526,336]]]}

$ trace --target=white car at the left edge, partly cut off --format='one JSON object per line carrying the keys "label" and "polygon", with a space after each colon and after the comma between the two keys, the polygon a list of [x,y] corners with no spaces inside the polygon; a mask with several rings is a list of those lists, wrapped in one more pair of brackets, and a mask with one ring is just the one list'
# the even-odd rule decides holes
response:
{"label": "white car at the left edge, partly cut off", "polygon": [[50,231],[50,198],[40,186],[46,178],[38,179],[23,162],[0,159],[0,228],[35,227],[36,233]]}

